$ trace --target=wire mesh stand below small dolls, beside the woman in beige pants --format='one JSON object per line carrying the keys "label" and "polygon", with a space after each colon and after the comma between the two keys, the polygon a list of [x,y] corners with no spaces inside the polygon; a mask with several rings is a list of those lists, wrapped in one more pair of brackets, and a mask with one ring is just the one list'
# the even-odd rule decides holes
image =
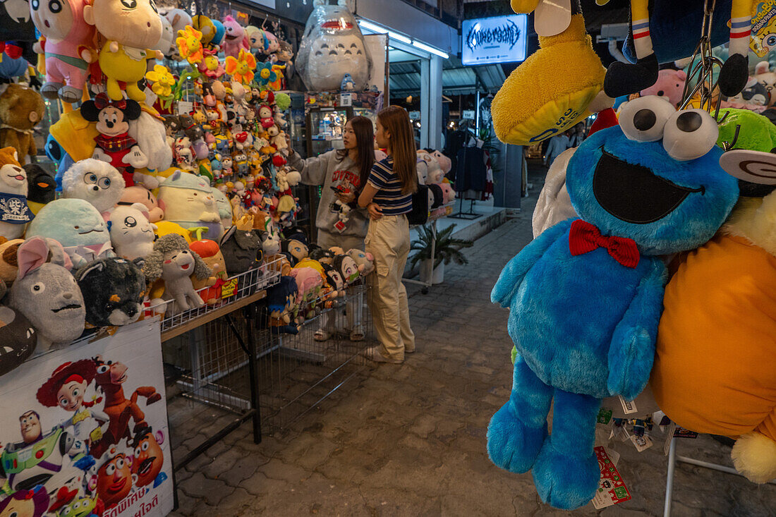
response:
{"label": "wire mesh stand below small dolls, beside the woman in beige pants", "polygon": [[[286,428],[367,364],[367,353],[376,343],[368,295],[369,286],[350,286],[336,307],[304,321],[296,335],[278,334],[269,327],[266,309],[258,314],[258,397],[264,432]],[[319,329],[329,338],[318,341]],[[363,339],[352,340],[354,332]]]}

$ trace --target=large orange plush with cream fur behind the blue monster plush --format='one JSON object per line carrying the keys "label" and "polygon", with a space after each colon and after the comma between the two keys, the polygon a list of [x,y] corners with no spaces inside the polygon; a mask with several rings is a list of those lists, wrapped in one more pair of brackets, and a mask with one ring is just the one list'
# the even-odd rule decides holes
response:
{"label": "large orange plush with cream fur behind the blue monster plush", "polygon": [[776,477],[776,192],[742,197],[665,292],[651,377],[677,425],[736,439],[745,477]]}

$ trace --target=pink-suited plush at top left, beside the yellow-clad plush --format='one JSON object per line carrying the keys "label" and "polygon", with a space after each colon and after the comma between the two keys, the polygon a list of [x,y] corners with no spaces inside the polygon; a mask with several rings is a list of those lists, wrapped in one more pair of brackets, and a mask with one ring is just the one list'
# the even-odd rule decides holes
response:
{"label": "pink-suited plush at top left, beside the yellow-clad plush", "polygon": [[46,83],[40,95],[77,102],[83,95],[88,62],[96,53],[95,28],[84,21],[85,0],[29,2],[33,22],[46,38],[35,51],[46,56]]}

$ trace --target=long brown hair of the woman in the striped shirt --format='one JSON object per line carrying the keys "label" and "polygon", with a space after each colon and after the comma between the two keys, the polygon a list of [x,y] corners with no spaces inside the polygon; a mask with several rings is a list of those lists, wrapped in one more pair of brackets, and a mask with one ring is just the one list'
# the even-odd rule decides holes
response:
{"label": "long brown hair of the woman in the striped shirt", "polygon": [[410,114],[400,106],[388,106],[377,113],[377,118],[390,139],[393,172],[399,177],[401,192],[414,193],[417,190],[417,153]]}

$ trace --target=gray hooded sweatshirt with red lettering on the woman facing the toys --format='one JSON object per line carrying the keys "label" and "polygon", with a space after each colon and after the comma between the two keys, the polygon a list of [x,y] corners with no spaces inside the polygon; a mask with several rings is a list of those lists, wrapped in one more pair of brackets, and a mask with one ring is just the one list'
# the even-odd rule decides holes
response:
{"label": "gray hooded sweatshirt with red lettering on the woman facing the toys", "polygon": [[318,213],[315,217],[315,225],[318,227],[319,232],[331,234],[332,238],[336,240],[336,236],[348,236],[365,238],[366,231],[369,226],[369,213],[362,208],[356,208],[350,211],[348,216],[348,222],[345,223],[345,229],[338,231],[334,224],[337,224],[339,220],[338,210],[334,210],[332,206],[334,201],[337,200],[337,196],[334,195],[334,190],[330,187],[337,187],[350,183],[351,190],[358,199],[359,192],[361,191],[361,175],[359,174],[359,166],[345,156],[342,160],[337,155],[337,151],[328,151],[320,156],[313,158],[303,159],[300,155],[293,153],[288,158],[289,165],[296,168],[302,175],[302,182],[305,185],[322,185],[323,189],[320,192],[320,204],[318,205]]}

